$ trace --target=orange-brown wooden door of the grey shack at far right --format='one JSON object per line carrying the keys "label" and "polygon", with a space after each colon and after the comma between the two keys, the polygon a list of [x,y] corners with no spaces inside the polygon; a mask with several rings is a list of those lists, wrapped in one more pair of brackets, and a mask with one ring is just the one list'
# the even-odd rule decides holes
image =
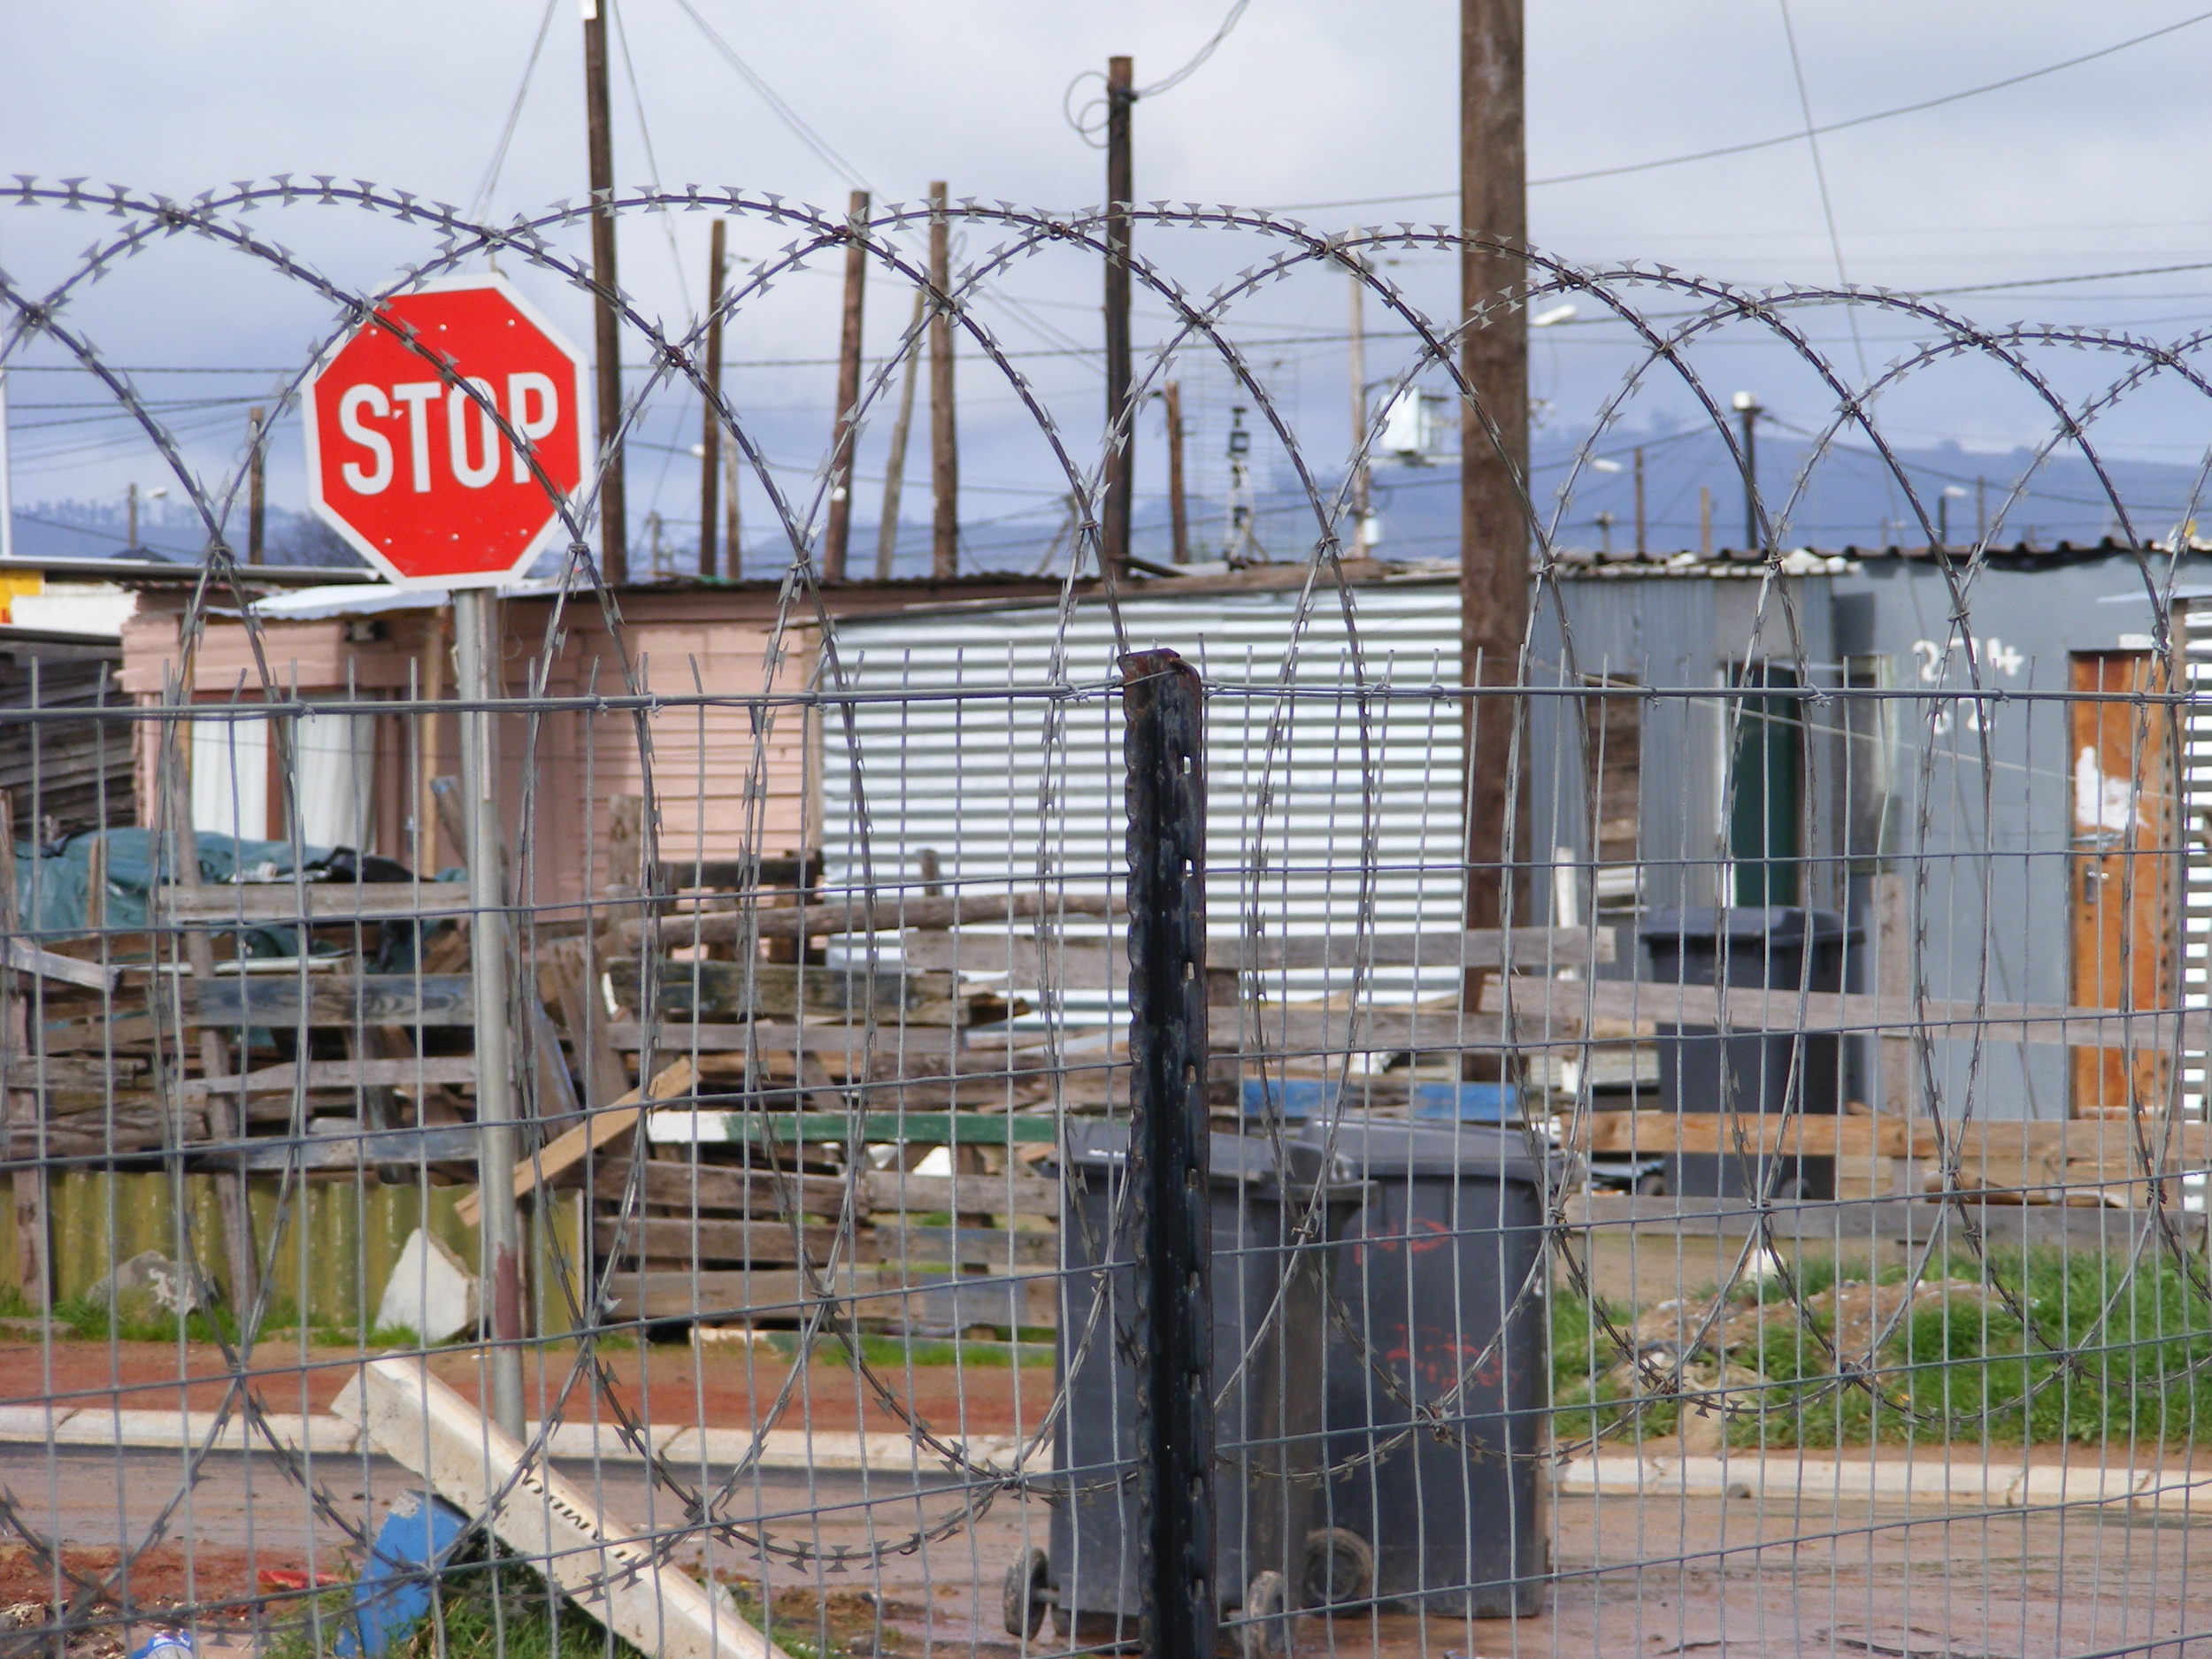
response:
{"label": "orange-brown wooden door of the grey shack at far right", "polygon": [[[2148,650],[2073,657],[2073,978],[2081,1009],[2166,1009],[2177,1000],[2181,849],[2174,814],[2174,710],[2130,701],[2166,688]],[[2073,1053],[2075,1117],[2166,1110],[2170,1057],[2157,1048]]]}

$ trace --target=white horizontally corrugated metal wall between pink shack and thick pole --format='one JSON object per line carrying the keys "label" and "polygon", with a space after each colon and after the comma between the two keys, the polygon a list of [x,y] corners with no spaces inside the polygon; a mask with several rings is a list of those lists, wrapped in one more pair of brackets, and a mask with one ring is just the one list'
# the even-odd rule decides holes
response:
{"label": "white horizontally corrugated metal wall between pink shack and thick pole", "polygon": [[[1367,905],[1378,929],[1455,927],[1460,706],[1360,697],[1363,681],[1405,690],[1458,679],[1453,586],[1360,588],[1358,666],[1334,593],[1316,595],[1303,626],[1296,611],[1296,595],[1283,593],[1121,606],[1130,648],[1181,650],[1210,688],[1217,931],[1349,933]],[[830,883],[920,891],[929,847],[942,880],[973,889],[1040,878],[1071,894],[1119,889],[1121,739],[1108,695],[1117,672],[1108,611],[1075,611],[1055,690],[1060,646],[1053,606],[836,626],[838,670],[825,664],[821,684],[830,690],[843,675],[858,701],[823,719]],[[1024,690],[1006,695],[1009,686]],[[1416,982],[1425,993],[1449,991],[1455,975],[1400,971],[1378,991],[1405,993]]]}

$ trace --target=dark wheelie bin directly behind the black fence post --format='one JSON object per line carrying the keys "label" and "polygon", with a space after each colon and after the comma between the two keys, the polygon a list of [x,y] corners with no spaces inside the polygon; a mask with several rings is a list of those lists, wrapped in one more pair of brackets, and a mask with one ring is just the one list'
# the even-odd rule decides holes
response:
{"label": "dark wheelie bin directly behind the black fence post", "polygon": [[[1135,1219],[1119,1203],[1128,1168],[1124,1124],[1071,1121],[1062,1157],[1057,1374],[1066,1407],[1053,1447],[1060,1498],[1051,1551],[1026,1551],[1006,1575],[1006,1628],[1033,1637],[1057,1608],[1060,1630],[1082,1644],[1137,1639],[1139,1515]],[[1321,1159],[1285,1144],[1283,1166],[1265,1137],[1212,1137],[1214,1582],[1241,1652],[1287,1648],[1292,1615],[1314,1564],[1358,1540],[1321,1535],[1323,1276],[1329,1234],[1358,1188],[1323,1179]],[[1321,1194],[1321,1230],[1296,1228]],[[1121,1214],[1117,1214],[1121,1210]]]}

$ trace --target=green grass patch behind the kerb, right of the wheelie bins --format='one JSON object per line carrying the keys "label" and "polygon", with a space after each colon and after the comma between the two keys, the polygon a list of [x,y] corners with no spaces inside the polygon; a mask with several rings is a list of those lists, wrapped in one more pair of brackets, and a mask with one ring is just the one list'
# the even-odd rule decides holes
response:
{"label": "green grass patch behind the kerb, right of the wheelie bins", "polygon": [[[1834,1334],[1827,1314],[1816,1314],[1812,1329],[1803,1318],[1776,1318],[1754,1340],[1730,1347],[1730,1367],[1756,1371],[1772,1387],[1732,1391],[1730,1402],[1741,1409],[1728,1438],[1747,1447],[1947,1436],[1995,1444],[2212,1444],[2212,1307],[2170,1259],[2146,1259],[2128,1274],[2121,1256],[2053,1248],[1997,1261],[1989,1274],[1964,1254],[1931,1265],[1924,1283],[1953,1279],[1984,1290],[1929,1301],[1898,1321],[1869,1378],[1880,1398],[1860,1385],[1838,1385],[1836,1358],[1820,1340]],[[1818,1256],[1798,1267],[1805,1296],[1838,1279],[1893,1285],[1905,1270],[1869,1274]],[[2011,1294],[2028,1323],[1993,1285]],[[1774,1301],[1783,1292],[1767,1283],[1739,1292],[1736,1307]],[[1621,1329],[1630,1325],[1628,1310],[1608,1312]],[[1714,1360],[1697,1356],[1708,1376]],[[1588,1303],[1555,1296],[1553,1400],[1566,1411],[1562,1436],[1621,1427],[1637,1409],[1626,1400],[1644,1387],[1595,1329]],[[1679,1409],[1641,1407],[1644,1431],[1672,1431]]]}

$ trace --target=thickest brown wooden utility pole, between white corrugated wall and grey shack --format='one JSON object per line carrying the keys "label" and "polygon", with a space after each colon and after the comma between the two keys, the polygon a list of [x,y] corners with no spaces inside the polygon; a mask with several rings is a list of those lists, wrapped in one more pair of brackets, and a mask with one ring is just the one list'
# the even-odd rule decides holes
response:
{"label": "thickest brown wooden utility pole, between white corrugated wall and grey shack", "polygon": [[[1469,686],[1513,686],[1528,624],[1528,161],[1522,0],[1460,0],[1460,653]],[[1473,697],[1467,714],[1467,925],[1498,927],[1517,790],[1520,699]],[[1524,854],[1526,856],[1526,854]],[[1469,984],[1471,993],[1480,984]]]}

